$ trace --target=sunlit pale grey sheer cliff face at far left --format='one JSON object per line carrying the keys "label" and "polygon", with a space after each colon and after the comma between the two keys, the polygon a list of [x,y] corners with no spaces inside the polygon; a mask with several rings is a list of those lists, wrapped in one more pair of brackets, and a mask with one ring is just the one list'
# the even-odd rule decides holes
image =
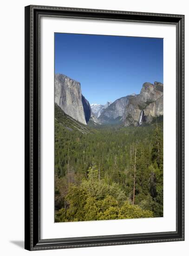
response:
{"label": "sunlit pale grey sheer cliff face at far left", "polygon": [[65,114],[86,124],[81,87],[78,81],[72,80],[64,74],[55,74],[55,103]]}

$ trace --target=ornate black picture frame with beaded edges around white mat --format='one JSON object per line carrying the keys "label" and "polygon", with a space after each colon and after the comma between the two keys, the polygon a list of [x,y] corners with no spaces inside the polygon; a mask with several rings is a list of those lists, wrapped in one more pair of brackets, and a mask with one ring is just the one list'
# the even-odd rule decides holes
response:
{"label": "ornate black picture frame with beaded edges around white mat", "polygon": [[[40,18],[118,20],[176,25],[176,231],[41,239],[40,235]],[[25,7],[25,249],[157,243],[184,240],[184,15]]]}

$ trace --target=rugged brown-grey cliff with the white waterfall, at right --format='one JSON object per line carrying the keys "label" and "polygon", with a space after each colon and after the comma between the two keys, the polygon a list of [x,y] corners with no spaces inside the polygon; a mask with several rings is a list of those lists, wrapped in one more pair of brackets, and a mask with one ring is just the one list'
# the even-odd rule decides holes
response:
{"label": "rugged brown-grey cliff with the white waterfall, at right", "polygon": [[163,84],[144,83],[140,94],[129,99],[123,115],[124,126],[150,123],[160,115],[163,115]]}

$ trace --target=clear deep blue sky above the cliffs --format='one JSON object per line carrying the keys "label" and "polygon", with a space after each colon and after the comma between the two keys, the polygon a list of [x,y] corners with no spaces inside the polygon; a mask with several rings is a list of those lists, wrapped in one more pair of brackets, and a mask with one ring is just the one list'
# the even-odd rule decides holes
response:
{"label": "clear deep blue sky above the cliffs", "polygon": [[55,33],[55,73],[79,81],[90,104],[113,102],[163,82],[163,39]]}

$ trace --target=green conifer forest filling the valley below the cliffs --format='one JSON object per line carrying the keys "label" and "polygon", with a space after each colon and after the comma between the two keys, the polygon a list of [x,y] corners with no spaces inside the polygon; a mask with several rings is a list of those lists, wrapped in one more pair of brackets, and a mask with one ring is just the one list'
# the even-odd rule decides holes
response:
{"label": "green conifer forest filling the valley below the cliffs", "polygon": [[55,108],[55,222],[163,216],[163,121],[85,126]]}

